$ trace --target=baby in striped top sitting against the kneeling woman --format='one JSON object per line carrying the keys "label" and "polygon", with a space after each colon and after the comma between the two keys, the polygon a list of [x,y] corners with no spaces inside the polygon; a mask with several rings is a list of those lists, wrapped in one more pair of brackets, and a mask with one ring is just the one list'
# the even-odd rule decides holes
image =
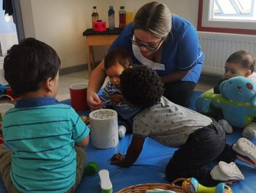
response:
{"label": "baby in striped top sitting against the kneeling woman", "polygon": [[123,70],[130,68],[131,64],[129,52],[122,48],[111,50],[104,59],[104,68],[109,82],[105,86],[100,100],[103,108],[111,108],[118,112],[118,135],[120,138],[125,136],[125,133],[132,132],[133,118],[139,111],[127,105],[120,90],[120,74]]}

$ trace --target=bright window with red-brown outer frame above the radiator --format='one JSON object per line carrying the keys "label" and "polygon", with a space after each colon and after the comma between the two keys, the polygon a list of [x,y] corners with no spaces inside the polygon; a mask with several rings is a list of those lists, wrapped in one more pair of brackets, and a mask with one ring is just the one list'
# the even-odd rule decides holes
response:
{"label": "bright window with red-brown outer frame above the radiator", "polygon": [[256,2],[199,0],[197,30],[256,35]]}

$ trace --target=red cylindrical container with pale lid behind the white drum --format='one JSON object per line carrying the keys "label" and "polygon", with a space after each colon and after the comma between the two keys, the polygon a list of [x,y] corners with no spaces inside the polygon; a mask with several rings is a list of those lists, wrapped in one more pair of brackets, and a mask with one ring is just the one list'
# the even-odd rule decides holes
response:
{"label": "red cylindrical container with pale lid behind the white drum", "polygon": [[69,92],[71,96],[71,106],[75,111],[90,110],[87,104],[86,92],[87,85],[84,83],[75,83],[69,86]]}

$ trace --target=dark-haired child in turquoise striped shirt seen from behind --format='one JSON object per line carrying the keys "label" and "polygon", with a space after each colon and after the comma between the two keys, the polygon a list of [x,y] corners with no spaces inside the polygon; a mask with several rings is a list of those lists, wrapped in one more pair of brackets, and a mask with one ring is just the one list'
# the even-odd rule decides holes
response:
{"label": "dark-haired child in turquoise striped shirt seen from behind", "polygon": [[89,128],[69,105],[55,99],[60,59],[33,38],[8,50],[4,77],[20,96],[3,116],[0,172],[8,192],[75,192],[85,163]]}

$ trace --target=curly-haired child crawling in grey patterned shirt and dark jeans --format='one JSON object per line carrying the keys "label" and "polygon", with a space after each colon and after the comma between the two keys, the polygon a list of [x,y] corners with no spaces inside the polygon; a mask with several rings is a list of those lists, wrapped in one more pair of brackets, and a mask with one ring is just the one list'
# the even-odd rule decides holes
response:
{"label": "curly-haired child crawling in grey patterned shirt and dark jeans", "polygon": [[[114,154],[111,164],[133,165],[143,150],[145,139],[150,137],[163,145],[179,148],[165,169],[169,181],[180,177],[194,177],[203,185],[238,181],[244,176],[232,161],[244,156],[247,161],[253,159],[255,165],[253,143],[241,138],[233,146],[226,144],[225,132],[214,119],[163,97],[163,83],[146,65],[123,71],[120,88],[127,103],[141,111],[134,117],[133,137],[127,154]],[[210,170],[205,165],[212,161],[219,161],[219,164]]]}

